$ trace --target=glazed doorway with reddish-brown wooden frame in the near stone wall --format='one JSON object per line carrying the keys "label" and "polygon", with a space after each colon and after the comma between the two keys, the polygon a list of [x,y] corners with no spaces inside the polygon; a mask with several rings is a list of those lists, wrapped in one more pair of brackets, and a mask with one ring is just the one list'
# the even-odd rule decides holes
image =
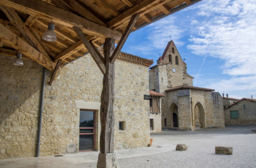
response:
{"label": "glazed doorway with reddish-brown wooden frame in the near stone wall", "polygon": [[95,150],[95,113],[94,110],[80,110],[79,152]]}

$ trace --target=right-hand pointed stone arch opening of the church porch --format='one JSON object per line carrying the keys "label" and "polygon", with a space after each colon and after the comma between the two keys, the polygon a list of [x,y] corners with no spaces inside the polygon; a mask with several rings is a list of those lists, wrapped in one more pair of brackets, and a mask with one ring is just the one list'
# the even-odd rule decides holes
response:
{"label": "right-hand pointed stone arch opening of the church porch", "polygon": [[195,126],[205,128],[205,111],[204,106],[202,105],[202,103],[200,103],[200,101],[197,101],[194,106],[194,121]]}

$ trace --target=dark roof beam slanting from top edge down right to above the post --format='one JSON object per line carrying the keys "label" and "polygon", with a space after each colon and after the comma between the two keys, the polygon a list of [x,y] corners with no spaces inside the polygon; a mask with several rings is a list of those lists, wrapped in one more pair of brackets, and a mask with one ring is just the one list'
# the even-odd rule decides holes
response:
{"label": "dark roof beam slanting from top edge down right to above the post", "polygon": [[[76,0],[61,0],[67,7],[71,8],[73,11],[81,14],[84,18],[89,21],[96,22],[97,24],[101,24],[102,26],[106,26],[104,22],[94,16],[91,12],[89,12],[86,8],[81,6],[81,3]],[[106,26],[107,27],[107,26]]]}

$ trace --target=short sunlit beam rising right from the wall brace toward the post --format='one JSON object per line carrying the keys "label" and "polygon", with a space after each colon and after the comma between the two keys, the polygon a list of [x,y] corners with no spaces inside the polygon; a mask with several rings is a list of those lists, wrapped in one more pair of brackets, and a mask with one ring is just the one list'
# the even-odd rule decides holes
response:
{"label": "short sunlit beam rising right from the wall brace toward the post", "polygon": [[69,47],[69,49],[65,50],[61,54],[54,57],[54,62],[56,63],[59,59],[63,60],[64,58],[67,58],[70,55],[72,55],[72,54],[76,53],[77,51],[81,50],[82,48],[84,48],[84,45],[82,44],[82,41],[80,40],[76,44]]}

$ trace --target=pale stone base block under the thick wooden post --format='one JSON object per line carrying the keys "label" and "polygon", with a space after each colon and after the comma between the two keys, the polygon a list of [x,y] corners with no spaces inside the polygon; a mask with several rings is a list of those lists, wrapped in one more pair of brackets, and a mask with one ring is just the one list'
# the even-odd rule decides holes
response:
{"label": "pale stone base block under the thick wooden post", "polygon": [[116,154],[109,153],[99,153],[97,168],[118,168],[118,162]]}

